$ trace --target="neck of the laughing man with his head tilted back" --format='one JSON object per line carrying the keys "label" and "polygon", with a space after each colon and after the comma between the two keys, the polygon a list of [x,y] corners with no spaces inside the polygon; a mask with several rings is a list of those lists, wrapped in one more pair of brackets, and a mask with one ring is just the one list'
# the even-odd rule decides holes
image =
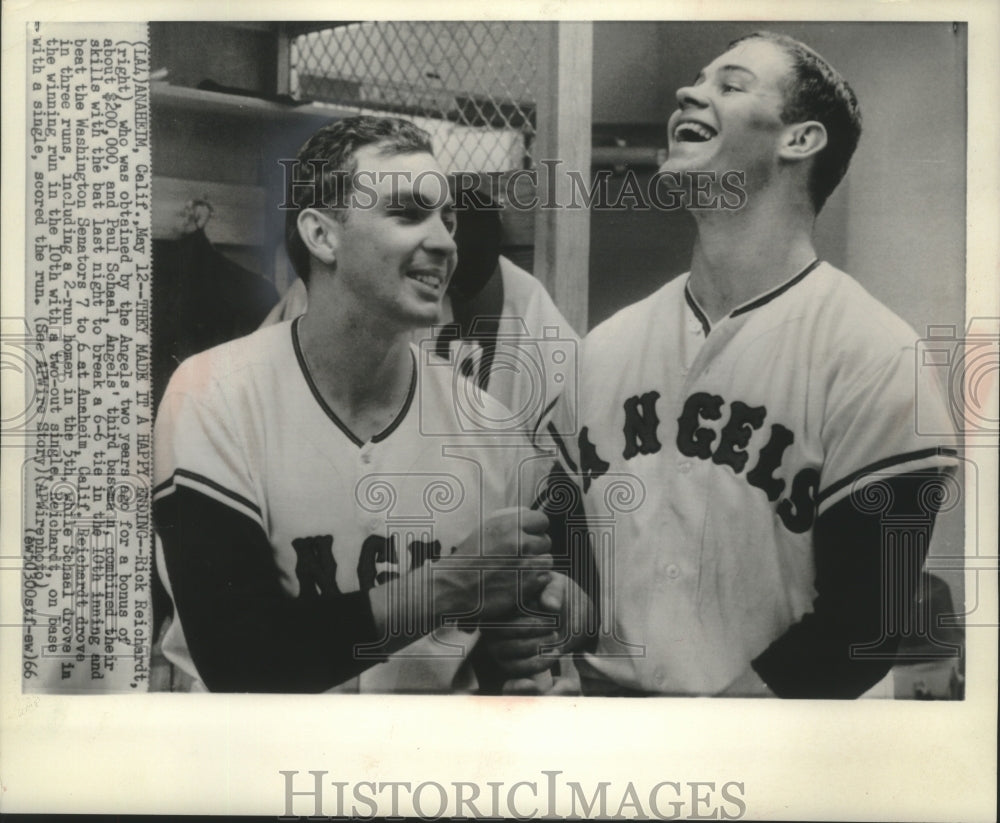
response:
{"label": "neck of the laughing man with his head tilted back", "polygon": [[695,213],[690,287],[711,322],[784,283],[816,259],[813,215],[758,198],[738,212]]}

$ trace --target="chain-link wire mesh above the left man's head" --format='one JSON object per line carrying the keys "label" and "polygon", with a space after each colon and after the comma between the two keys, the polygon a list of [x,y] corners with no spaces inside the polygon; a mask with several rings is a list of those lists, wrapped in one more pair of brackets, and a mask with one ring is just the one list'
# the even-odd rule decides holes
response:
{"label": "chain-link wire mesh above the left man's head", "polygon": [[338,25],[292,40],[290,91],[408,117],[448,172],[530,169],[539,39],[518,21]]}

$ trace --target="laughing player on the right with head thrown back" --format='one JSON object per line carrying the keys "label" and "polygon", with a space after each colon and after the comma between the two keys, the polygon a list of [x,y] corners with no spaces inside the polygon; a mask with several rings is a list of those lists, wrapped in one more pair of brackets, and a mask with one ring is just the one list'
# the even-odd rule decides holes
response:
{"label": "laughing player on the right with head thrown back", "polygon": [[[926,550],[894,556],[882,517],[929,538],[954,463],[914,430],[916,334],[813,246],[857,101],[808,47],[758,33],[677,105],[665,176],[739,172],[746,202],[690,208],[690,272],[584,342],[561,447],[614,546],[578,668],[598,694],[857,697],[892,665]],[[615,508],[623,478],[641,494]]]}

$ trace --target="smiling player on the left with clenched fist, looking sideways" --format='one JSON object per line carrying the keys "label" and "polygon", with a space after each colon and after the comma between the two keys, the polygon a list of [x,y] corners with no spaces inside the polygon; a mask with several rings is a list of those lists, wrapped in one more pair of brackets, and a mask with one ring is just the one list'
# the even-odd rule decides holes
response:
{"label": "smiling player on the left with clenched fist, looking sideways", "polygon": [[469,627],[562,581],[518,507],[530,446],[463,432],[451,371],[410,343],[455,268],[445,178],[396,118],[338,121],[298,159],[308,312],[185,361],[159,408],[164,653],[195,689],[471,690]]}

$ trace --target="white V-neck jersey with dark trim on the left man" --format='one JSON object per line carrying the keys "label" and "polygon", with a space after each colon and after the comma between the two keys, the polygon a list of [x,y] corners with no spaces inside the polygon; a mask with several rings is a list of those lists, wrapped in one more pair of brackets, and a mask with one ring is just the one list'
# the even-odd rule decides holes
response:
{"label": "white V-neck jersey with dark trim on the left man", "polygon": [[[519,464],[530,460],[530,445],[463,431],[451,399],[452,369],[426,367],[411,347],[417,368],[404,407],[383,432],[361,442],[313,385],[297,324],[270,326],[191,357],[176,371],[159,409],[158,562],[179,615],[163,648],[196,679],[188,639],[204,628],[192,621],[206,619],[195,615],[205,605],[186,609],[175,597],[176,564],[185,549],[170,542],[178,528],[190,530],[186,513],[199,518],[204,536],[195,539],[213,549],[227,546],[237,565],[246,551],[247,564],[264,570],[258,576],[270,577],[247,585],[276,592],[278,607],[294,608],[317,595],[364,592],[433,562],[480,528],[484,516],[522,502]],[[490,408],[504,413],[499,404]],[[526,490],[526,498],[534,491]],[[263,546],[267,556],[252,558],[251,544]],[[255,609],[255,601],[248,608]],[[289,625],[316,633],[309,646],[316,656],[329,653],[324,638],[356,628]],[[471,689],[466,655],[476,639],[475,633],[438,629],[331,690]],[[262,661],[268,653],[260,650]]]}

